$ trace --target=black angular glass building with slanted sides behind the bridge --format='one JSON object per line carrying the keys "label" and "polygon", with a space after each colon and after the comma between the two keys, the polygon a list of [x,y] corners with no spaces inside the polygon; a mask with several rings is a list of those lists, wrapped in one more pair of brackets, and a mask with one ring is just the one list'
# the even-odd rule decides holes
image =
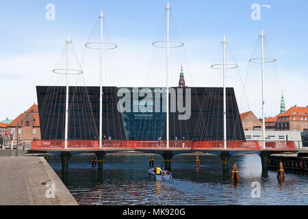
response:
{"label": "black angular glass building with slanted sides behind the bridge", "polygon": [[[103,87],[102,136],[112,140],[166,139],[165,89]],[[64,139],[66,87],[37,86],[36,90],[42,140]],[[125,95],[118,94],[123,90],[130,94],[130,101],[120,104]],[[223,140],[222,88],[170,88],[169,92],[170,140]],[[179,104],[181,99],[183,105]],[[186,99],[190,105],[185,105]],[[98,140],[99,87],[71,86],[68,106],[68,139]],[[189,118],[179,119],[184,114]],[[245,140],[233,88],[227,88],[227,140]]]}

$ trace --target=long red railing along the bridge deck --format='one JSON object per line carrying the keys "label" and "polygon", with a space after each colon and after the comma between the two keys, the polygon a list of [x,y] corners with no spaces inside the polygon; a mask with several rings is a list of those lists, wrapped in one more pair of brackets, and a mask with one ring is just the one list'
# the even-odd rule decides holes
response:
{"label": "long red railing along the bridge deck", "polygon": [[[64,140],[34,140],[31,144],[32,150],[64,149]],[[166,140],[102,140],[103,149],[164,149],[167,147]],[[224,149],[223,140],[192,141],[192,140],[170,140],[170,149]],[[98,140],[68,140],[67,149],[100,149]],[[228,140],[227,149],[260,150],[263,149],[261,141],[238,141]],[[294,142],[266,142],[266,149],[292,149],[295,150]]]}

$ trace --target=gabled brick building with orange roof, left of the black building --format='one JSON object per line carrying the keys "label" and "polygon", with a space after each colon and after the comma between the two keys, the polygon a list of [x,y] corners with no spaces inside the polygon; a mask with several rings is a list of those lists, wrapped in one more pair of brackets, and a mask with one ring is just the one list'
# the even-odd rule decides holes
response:
{"label": "gabled brick building with orange roof, left of the black building", "polygon": [[[40,119],[38,117],[38,105],[32,105],[29,110],[17,116],[12,123],[7,125],[12,133],[12,140],[23,140],[25,145],[31,140],[40,139]],[[18,129],[18,134],[16,129]]]}

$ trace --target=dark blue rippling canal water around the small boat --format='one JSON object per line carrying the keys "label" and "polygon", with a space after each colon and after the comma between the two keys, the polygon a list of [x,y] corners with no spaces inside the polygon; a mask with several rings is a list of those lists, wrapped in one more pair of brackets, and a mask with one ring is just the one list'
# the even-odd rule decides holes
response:
{"label": "dark blue rippling canal water around the small boat", "polygon": [[[59,156],[44,155],[79,205],[308,204],[307,172],[285,170],[286,179],[280,183],[277,170],[262,172],[258,155],[232,156],[229,172],[222,172],[216,155],[199,155],[201,168],[195,167],[196,155],[176,155],[170,181],[156,181],[149,176],[149,154],[107,154],[103,171],[92,168],[92,156],[71,157],[69,171],[64,174]],[[154,155],[154,161],[155,166],[164,164],[160,155]],[[238,185],[230,181],[234,162],[240,173]],[[258,183],[259,198],[255,187]]]}

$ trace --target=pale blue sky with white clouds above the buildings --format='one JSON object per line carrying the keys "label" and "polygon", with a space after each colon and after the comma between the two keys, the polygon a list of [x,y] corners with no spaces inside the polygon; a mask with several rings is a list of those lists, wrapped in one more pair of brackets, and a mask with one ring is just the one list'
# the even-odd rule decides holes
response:
{"label": "pale blue sky with white clouds above the buildings", "polygon": [[[35,86],[46,82],[67,34],[73,38],[81,58],[84,43],[101,10],[112,40],[119,44],[120,60],[129,56],[119,64],[119,75],[141,75],[148,69],[148,62],[143,61],[151,54],[151,42],[159,31],[166,2],[1,1],[0,81],[5,93],[1,105],[5,105],[0,107],[0,120],[15,118],[37,103]],[[55,21],[45,18],[47,3],[55,5]],[[253,3],[270,5],[270,9],[261,7],[260,21],[251,19]],[[271,53],[278,60],[287,108],[308,105],[308,1],[170,0],[170,6],[185,42],[192,75],[198,78],[208,70],[222,35],[227,36],[241,74],[245,75],[248,59],[264,29]]]}

